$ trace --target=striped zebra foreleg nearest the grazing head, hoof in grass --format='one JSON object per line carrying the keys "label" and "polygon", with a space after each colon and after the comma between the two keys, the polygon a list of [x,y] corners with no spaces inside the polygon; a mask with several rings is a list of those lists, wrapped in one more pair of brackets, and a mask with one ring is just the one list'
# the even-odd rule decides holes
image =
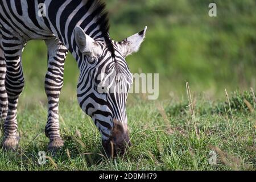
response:
{"label": "striped zebra foreleg nearest the grazing head, hoof in grass", "polygon": [[48,47],[48,71],[44,82],[48,98],[48,119],[45,129],[49,138],[48,150],[55,151],[64,142],[60,137],[59,97],[63,86],[64,61],[68,50],[57,39],[46,40]]}

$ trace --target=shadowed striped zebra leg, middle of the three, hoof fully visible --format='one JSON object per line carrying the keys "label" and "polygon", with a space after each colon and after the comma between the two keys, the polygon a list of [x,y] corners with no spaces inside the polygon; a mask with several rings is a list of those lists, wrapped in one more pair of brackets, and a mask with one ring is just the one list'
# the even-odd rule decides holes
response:
{"label": "shadowed striped zebra leg, middle of the three, hoof fully visible", "polygon": [[6,60],[5,88],[8,98],[8,111],[4,123],[3,149],[15,151],[19,143],[16,119],[18,99],[24,87],[21,55],[24,44],[16,38],[2,40]]}

